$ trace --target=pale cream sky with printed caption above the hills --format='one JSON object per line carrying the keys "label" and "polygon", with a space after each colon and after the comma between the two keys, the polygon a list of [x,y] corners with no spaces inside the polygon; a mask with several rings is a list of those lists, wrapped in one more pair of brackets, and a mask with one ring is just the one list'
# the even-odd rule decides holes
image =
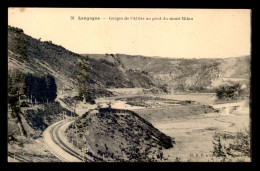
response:
{"label": "pale cream sky with printed caption above the hills", "polygon": [[9,8],[8,25],[79,54],[227,58],[250,55],[250,15],[248,9]]}

